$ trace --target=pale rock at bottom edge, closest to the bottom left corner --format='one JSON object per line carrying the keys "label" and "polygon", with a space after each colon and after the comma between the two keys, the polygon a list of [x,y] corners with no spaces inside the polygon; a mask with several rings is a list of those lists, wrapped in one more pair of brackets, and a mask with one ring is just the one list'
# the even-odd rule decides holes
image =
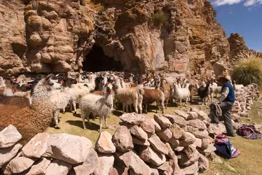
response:
{"label": "pale rock at bottom edge, closest to the bottom left corner", "polygon": [[11,160],[8,165],[6,165],[6,168],[4,169],[4,174],[17,174],[24,172],[25,170],[29,169],[34,162],[36,161],[35,158],[25,158],[17,156]]}

